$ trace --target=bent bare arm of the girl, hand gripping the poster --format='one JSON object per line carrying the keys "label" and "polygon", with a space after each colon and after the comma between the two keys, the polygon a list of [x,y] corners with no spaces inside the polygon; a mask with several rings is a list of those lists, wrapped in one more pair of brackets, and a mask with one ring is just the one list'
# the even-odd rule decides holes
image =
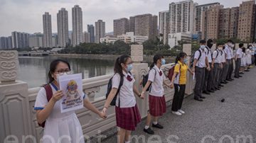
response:
{"label": "bent bare arm of the girl, hand gripping the poster", "polygon": [[55,103],[60,100],[60,98],[63,97],[62,91],[57,91],[52,98],[50,98],[50,101],[46,105],[43,110],[37,110],[36,111],[36,120],[38,121],[39,124],[42,124],[46,119],[49,117],[50,113],[53,110],[53,107]]}

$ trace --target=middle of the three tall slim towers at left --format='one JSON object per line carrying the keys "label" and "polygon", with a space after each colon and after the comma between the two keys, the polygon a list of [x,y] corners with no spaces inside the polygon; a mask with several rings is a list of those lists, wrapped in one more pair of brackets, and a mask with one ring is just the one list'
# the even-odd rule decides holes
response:
{"label": "middle of the three tall slim towers at left", "polygon": [[57,25],[58,25],[58,46],[68,46],[68,11],[65,8],[61,8],[57,13]]}

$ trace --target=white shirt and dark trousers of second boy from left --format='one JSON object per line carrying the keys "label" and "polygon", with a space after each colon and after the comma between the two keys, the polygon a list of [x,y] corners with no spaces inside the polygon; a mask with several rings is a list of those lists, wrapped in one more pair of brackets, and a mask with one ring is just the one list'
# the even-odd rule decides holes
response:
{"label": "white shirt and dark trousers of second boy from left", "polygon": [[[209,47],[206,46],[206,55],[208,58],[208,62],[211,65],[212,63],[212,52],[210,50]],[[213,69],[210,69],[210,71],[208,71],[207,69],[205,69],[205,79],[204,79],[204,83],[203,83],[203,91],[210,91],[210,89],[212,88],[213,85]]]}

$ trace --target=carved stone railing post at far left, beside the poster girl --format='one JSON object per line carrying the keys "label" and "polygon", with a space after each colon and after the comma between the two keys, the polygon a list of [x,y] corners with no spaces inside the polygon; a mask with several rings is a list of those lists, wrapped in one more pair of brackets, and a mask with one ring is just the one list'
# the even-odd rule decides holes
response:
{"label": "carved stone railing post at far left, beside the poster girl", "polygon": [[[0,51],[1,142],[22,142],[27,135],[31,135],[28,84],[16,81],[17,69],[18,52]],[[31,140],[25,142],[31,142]]]}

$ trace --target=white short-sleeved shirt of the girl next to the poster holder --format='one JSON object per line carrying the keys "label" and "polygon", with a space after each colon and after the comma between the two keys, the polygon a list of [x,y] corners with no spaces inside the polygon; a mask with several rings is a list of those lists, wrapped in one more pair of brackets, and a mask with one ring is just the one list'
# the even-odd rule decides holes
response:
{"label": "white short-sleeved shirt of the girl next to the poster holder", "polygon": [[[120,88],[119,94],[117,95],[116,106],[118,106],[119,98],[120,98],[120,108],[130,108],[136,105],[136,98],[133,92],[133,85],[135,82],[134,76],[132,74],[126,73],[124,74],[124,82]],[[131,76],[132,81],[128,81],[127,76]],[[120,74],[116,73],[112,79],[112,88],[118,88],[120,84]]]}

